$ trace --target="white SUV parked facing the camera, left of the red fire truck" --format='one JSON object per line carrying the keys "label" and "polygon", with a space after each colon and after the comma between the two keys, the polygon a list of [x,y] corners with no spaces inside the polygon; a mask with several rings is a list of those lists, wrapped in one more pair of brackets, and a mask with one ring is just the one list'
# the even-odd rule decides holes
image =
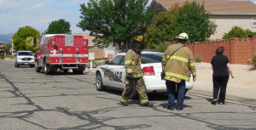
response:
{"label": "white SUV parked facing the camera, left of the red fire truck", "polygon": [[35,58],[31,51],[18,51],[15,54],[15,67],[20,65],[35,66]]}

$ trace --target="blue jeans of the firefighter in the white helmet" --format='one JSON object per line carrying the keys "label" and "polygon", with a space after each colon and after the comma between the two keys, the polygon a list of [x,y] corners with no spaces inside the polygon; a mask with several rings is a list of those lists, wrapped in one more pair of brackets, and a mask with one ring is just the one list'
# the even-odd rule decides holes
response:
{"label": "blue jeans of the firefighter in the white helmet", "polygon": [[166,80],[166,88],[169,100],[168,106],[175,108],[175,93],[177,90],[177,109],[183,109],[186,82],[182,80],[181,82],[177,83]]}

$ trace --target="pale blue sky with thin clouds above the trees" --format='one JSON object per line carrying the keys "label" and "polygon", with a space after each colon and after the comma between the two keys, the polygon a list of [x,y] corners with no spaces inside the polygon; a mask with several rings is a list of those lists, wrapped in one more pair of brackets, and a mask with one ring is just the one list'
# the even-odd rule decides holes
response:
{"label": "pale blue sky with thin clouds above the trees", "polygon": [[[89,0],[0,0],[0,34],[15,33],[30,25],[44,32],[51,21],[70,22],[73,33],[84,32],[76,26],[80,21],[80,4]],[[256,0],[252,0],[256,3]]]}

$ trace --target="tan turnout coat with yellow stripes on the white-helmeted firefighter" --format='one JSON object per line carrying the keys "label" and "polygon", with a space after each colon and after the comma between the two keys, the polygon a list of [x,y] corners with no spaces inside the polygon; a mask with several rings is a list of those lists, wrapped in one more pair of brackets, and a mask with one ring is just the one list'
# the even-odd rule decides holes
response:
{"label": "tan turnout coat with yellow stripes on the white-helmeted firefighter", "polygon": [[[189,81],[190,72],[196,76],[195,62],[191,50],[177,43],[170,45],[163,55],[162,70],[165,72],[165,79],[172,82]],[[177,48],[180,48],[177,50]],[[171,54],[177,50],[175,54]],[[171,57],[170,57],[171,56]]]}

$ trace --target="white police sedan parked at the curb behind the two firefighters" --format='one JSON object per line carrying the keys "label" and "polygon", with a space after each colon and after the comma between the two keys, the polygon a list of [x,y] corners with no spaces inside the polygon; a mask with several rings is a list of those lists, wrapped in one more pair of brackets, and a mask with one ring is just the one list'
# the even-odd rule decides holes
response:
{"label": "white police sedan parked at the curb behind the two firefighters", "polygon": [[[144,71],[143,80],[148,93],[166,92],[166,81],[161,80],[161,61],[163,53],[143,52],[142,69]],[[186,92],[193,88],[193,77],[186,82]],[[96,89],[103,91],[106,87],[124,89],[125,88],[125,53],[117,54],[106,65],[96,67]],[[135,90],[135,89],[134,89]],[[134,91],[133,94],[137,94]]]}

